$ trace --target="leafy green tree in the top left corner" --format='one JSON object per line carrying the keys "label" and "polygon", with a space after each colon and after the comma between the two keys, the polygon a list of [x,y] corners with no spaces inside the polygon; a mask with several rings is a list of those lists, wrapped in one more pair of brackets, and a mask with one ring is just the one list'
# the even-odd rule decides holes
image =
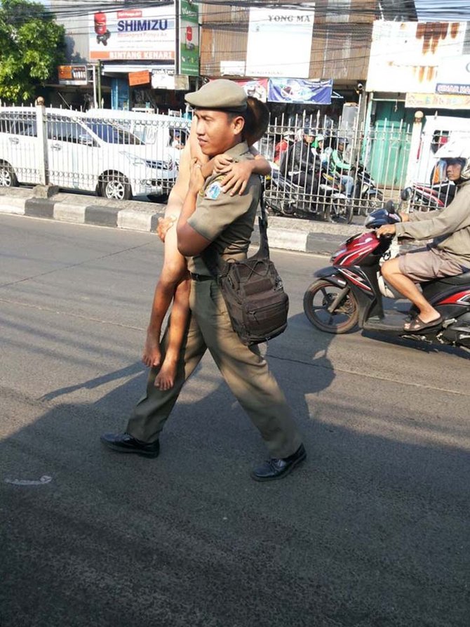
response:
{"label": "leafy green tree in the top left corner", "polygon": [[21,103],[65,59],[65,30],[37,2],[0,0],[0,98]]}

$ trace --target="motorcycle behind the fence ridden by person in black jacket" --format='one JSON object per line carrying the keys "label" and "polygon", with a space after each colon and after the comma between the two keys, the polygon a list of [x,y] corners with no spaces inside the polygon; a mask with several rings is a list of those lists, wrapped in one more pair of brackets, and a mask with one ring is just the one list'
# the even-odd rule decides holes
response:
{"label": "motorcycle behind the fence ridden by person in black jacket", "polygon": [[264,192],[267,210],[290,218],[319,218],[336,224],[349,224],[353,218],[351,203],[337,185],[318,184],[315,194],[297,185],[278,169],[271,169]]}

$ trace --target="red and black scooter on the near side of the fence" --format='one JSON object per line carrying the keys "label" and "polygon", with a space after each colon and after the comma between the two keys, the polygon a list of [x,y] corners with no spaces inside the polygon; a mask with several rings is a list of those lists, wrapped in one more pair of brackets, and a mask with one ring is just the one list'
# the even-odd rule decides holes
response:
{"label": "red and black scooter on the near side of the fence", "polygon": [[[386,207],[372,211],[365,226],[375,229],[398,222],[393,203]],[[316,280],[304,294],[304,312],[311,324],[333,334],[358,325],[387,335],[470,348],[470,272],[422,284],[424,296],[443,318],[440,327],[419,334],[405,331],[403,324],[417,315],[413,307],[408,313],[384,314],[383,296],[397,296],[380,275],[380,261],[387,258],[391,241],[377,237],[373,230],[354,235],[333,254],[333,265],[315,272]]]}

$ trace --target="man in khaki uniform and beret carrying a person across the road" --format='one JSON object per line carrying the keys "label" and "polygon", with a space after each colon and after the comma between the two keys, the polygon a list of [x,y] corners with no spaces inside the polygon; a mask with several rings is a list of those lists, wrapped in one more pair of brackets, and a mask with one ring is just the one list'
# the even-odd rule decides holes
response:
{"label": "man in khaki uniform and beret carrying a person across the road", "polygon": [[[234,161],[253,159],[243,141],[243,126],[250,116],[243,88],[224,79],[211,81],[187,94],[186,101],[194,107],[196,134],[204,154],[214,157],[225,153]],[[158,369],[151,369],[147,393],[137,403],[126,433],[108,433],[101,440],[114,451],[158,456],[163,425],[184,381],[208,349],[267,445],[269,460],[251,476],[258,481],[280,479],[306,457],[302,440],[267,362],[256,347],[243,345],[232,329],[222,293],[201,257],[213,243],[221,258],[246,258],[260,199],[260,179],[251,176],[242,195],[230,196],[222,190],[223,176],[213,174],[204,180],[195,161],[177,224],[178,249],[187,257],[192,277],[192,315],[175,383],[168,390],[155,388]],[[163,357],[167,335],[168,329],[162,341]]]}

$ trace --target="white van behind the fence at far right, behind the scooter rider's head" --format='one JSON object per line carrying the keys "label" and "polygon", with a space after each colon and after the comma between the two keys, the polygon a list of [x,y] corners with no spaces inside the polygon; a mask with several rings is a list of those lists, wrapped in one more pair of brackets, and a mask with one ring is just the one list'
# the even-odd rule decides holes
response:
{"label": "white van behind the fence at far right, behind the scooter rider's head", "polygon": [[445,176],[436,168],[439,157],[436,152],[450,140],[470,142],[470,118],[445,115],[427,115],[417,155],[416,180],[419,183],[441,183]]}

